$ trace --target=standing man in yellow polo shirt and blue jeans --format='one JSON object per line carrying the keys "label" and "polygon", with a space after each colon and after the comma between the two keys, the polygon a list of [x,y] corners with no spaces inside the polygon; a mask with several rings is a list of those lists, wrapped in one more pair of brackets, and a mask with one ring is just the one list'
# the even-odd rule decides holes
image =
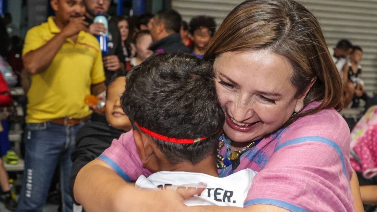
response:
{"label": "standing man in yellow polo shirt and blue jeans", "polygon": [[42,212],[60,164],[63,212],[72,212],[68,180],[75,135],[90,117],[88,94],[106,89],[98,41],[85,32],[84,0],[51,0],[55,17],[28,31],[23,49],[28,91],[25,172],[17,211]]}

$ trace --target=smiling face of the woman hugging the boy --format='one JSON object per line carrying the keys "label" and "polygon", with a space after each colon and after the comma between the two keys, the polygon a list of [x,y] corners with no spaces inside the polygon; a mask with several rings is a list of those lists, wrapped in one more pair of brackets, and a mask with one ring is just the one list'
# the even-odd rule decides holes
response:
{"label": "smiling face of the woman hugging the boy", "polygon": [[270,51],[225,52],[215,59],[216,89],[231,140],[257,140],[280,128],[303,107],[290,78],[293,69]]}

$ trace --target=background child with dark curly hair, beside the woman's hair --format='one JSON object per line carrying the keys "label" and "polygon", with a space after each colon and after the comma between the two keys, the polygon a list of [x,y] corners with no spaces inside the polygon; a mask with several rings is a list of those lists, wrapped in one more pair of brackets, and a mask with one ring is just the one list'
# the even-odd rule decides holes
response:
{"label": "background child with dark curly hair, beside the woman's hair", "polygon": [[191,19],[190,33],[194,41],[193,55],[203,58],[205,47],[210,43],[215,29],[216,23],[213,17],[199,15]]}

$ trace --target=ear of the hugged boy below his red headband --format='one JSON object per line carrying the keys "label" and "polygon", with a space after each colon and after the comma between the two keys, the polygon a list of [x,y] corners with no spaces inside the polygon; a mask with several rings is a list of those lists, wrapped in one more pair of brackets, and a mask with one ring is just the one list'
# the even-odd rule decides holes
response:
{"label": "ear of the hugged boy below his red headband", "polygon": [[133,130],[133,139],[138,151],[140,160],[143,164],[148,163],[150,156],[153,154],[153,148],[148,138],[137,130]]}

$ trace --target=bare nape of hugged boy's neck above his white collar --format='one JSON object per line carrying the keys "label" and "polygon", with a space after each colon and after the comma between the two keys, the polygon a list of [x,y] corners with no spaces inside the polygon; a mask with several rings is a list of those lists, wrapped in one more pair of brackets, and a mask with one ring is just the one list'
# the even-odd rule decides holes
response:
{"label": "bare nape of hugged boy's neck above his white collar", "polygon": [[195,165],[188,162],[169,164],[166,167],[161,167],[161,171],[196,172],[219,177],[216,167],[216,158],[214,157],[207,157]]}

